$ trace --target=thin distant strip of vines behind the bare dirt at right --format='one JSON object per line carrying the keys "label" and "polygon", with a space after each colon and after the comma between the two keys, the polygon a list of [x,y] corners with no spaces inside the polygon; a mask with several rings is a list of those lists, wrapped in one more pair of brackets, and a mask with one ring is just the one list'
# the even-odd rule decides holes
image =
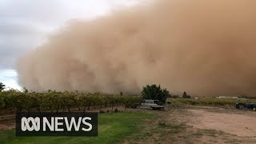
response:
{"label": "thin distant strip of vines behind the bare dirt at right", "polygon": [[202,106],[234,106],[237,102],[256,102],[256,99],[228,99],[228,98],[169,98],[167,102],[173,105],[189,104]]}

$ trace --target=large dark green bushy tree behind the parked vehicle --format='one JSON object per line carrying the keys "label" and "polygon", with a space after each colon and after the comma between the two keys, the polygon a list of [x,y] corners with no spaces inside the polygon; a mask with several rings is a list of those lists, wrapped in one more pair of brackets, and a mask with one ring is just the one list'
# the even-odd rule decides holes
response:
{"label": "large dark green bushy tree behind the parked vehicle", "polygon": [[142,90],[142,97],[144,99],[154,99],[160,102],[166,102],[166,98],[170,97],[170,93],[166,89],[161,89],[161,86],[156,85],[146,85]]}

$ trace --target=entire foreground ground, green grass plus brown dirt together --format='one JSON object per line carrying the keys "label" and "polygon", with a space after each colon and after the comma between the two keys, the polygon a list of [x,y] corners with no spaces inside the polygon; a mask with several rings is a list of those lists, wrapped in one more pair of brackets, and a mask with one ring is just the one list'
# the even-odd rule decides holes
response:
{"label": "entire foreground ground, green grass plus brown dirt together", "polygon": [[16,138],[2,130],[0,143],[255,143],[256,112],[225,106],[168,106],[99,114],[98,137]]}

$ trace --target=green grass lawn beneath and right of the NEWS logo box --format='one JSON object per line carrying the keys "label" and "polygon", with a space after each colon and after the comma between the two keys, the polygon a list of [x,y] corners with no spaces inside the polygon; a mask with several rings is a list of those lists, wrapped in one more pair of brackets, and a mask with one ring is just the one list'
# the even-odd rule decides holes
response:
{"label": "green grass lawn beneath and right of the NEWS logo box", "polygon": [[98,115],[97,137],[16,137],[15,130],[0,131],[0,143],[117,143],[139,133],[143,119],[155,118],[150,112],[106,113]]}

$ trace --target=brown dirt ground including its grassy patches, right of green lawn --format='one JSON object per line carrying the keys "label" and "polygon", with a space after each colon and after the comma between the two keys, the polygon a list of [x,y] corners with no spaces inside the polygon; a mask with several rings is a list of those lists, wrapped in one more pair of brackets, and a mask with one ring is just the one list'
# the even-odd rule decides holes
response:
{"label": "brown dirt ground including its grassy patches, right of green lawn", "polygon": [[126,143],[256,143],[255,111],[183,106],[154,112],[158,118],[145,122],[146,132]]}

